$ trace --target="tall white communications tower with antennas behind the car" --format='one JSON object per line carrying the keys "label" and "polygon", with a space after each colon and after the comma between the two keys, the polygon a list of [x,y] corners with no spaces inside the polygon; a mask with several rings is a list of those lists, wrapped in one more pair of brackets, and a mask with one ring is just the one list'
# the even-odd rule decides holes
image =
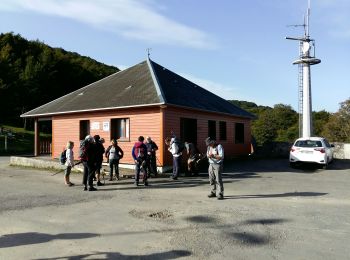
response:
{"label": "tall white communications tower with antennas behind the car", "polygon": [[[310,66],[321,62],[315,58],[315,40],[310,39],[310,13],[311,1],[308,0],[306,16],[304,16],[303,37],[286,37],[287,40],[299,41],[299,59],[294,61],[299,67],[299,137],[312,135],[312,102],[311,102],[311,76]],[[313,55],[311,55],[313,50]]]}

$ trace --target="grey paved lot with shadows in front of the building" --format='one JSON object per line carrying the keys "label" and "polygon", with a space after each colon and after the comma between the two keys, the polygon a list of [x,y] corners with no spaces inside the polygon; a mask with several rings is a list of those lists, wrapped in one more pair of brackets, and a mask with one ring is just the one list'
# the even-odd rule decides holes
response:
{"label": "grey paved lot with shadows in front of the building", "polygon": [[218,201],[204,173],[84,192],[0,157],[0,259],[349,259],[349,169],[226,164]]}

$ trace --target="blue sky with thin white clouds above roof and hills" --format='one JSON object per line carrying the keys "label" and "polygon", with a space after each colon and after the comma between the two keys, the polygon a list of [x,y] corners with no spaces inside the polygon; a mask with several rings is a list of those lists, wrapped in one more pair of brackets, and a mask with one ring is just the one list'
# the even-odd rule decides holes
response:
{"label": "blue sky with thin white clouds above roof and hills", "polygon": [[[147,57],[225,99],[297,110],[307,0],[1,0],[0,32],[121,69]],[[311,0],[313,110],[350,98],[350,1]]]}

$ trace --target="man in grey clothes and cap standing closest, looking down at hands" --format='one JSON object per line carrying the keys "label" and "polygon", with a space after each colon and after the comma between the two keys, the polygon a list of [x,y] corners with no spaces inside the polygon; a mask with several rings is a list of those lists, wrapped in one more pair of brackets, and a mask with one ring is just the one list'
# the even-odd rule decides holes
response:
{"label": "man in grey clothes and cap standing closest, looking down at hands", "polygon": [[224,162],[224,148],[221,144],[217,144],[216,140],[208,137],[205,139],[207,145],[207,157],[209,161],[209,198],[217,196],[218,200],[224,199],[224,185],[222,182],[222,171]]}

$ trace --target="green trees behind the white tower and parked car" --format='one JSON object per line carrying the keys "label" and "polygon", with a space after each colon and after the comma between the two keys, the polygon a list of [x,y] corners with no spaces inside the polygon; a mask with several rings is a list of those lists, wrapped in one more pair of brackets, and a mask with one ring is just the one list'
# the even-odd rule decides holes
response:
{"label": "green trees behind the white tower and parked car", "polygon": [[[269,142],[293,142],[299,137],[299,114],[289,105],[273,108],[255,103],[230,100],[231,103],[255,115],[252,135],[258,145]],[[314,111],[313,136],[323,136],[331,142],[350,142],[350,99],[340,103],[338,112]]]}

